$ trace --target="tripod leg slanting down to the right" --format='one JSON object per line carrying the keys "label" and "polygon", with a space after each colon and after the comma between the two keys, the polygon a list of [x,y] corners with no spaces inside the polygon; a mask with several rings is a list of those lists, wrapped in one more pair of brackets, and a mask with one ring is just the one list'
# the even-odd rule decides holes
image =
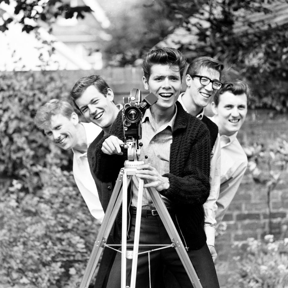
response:
{"label": "tripod leg slanting down to the right", "polygon": [[[145,180],[145,183],[146,180]],[[186,270],[186,273],[193,285],[194,288],[202,288],[202,285],[199,281],[199,278],[196,274],[196,271],[190,261],[190,258],[185,250],[185,247],[181,241],[181,238],[179,236],[179,233],[177,232],[175,225],[170,217],[170,214],[163,202],[163,199],[161,198],[159,192],[155,189],[155,188],[147,188],[152,201],[158,211],[158,214],[166,228],[166,231],[168,233],[168,235],[171,238],[171,241],[175,243],[175,249],[176,252],[179,255],[179,258]]]}

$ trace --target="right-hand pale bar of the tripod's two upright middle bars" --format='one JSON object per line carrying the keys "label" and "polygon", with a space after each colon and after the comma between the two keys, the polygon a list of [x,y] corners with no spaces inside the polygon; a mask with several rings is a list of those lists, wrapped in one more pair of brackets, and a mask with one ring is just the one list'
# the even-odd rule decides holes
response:
{"label": "right-hand pale bar of the tripod's two upright middle bars", "polygon": [[139,179],[130,288],[135,288],[135,285],[136,285],[136,272],[137,272],[139,235],[140,235],[140,223],[141,223],[141,207],[142,207],[142,198],[143,198],[143,185],[144,185],[143,179]]}

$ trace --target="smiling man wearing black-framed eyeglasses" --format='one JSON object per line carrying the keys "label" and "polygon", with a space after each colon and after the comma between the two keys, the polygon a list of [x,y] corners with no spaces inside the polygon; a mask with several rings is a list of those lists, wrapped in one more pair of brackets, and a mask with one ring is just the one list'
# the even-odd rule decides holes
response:
{"label": "smiling man wearing black-framed eyeglasses", "polygon": [[197,57],[187,68],[186,91],[179,95],[178,101],[189,114],[201,119],[209,128],[211,140],[210,195],[203,205],[205,211],[204,230],[207,245],[213,261],[217,258],[214,248],[216,229],[216,201],[220,190],[220,135],[218,127],[204,115],[204,107],[210,102],[217,90],[223,85],[220,82],[223,64],[211,57]]}

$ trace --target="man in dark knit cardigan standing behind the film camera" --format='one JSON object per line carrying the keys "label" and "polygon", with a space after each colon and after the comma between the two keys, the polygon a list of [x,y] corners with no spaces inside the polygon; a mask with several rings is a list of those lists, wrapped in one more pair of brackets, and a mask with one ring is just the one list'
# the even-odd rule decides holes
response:
{"label": "man in dark knit cardigan standing behind the film camera", "polygon": [[[148,183],[144,184],[142,202],[142,212],[145,212],[142,215],[145,214],[146,217],[141,218],[139,243],[151,245],[171,241],[159,215],[151,214],[154,204],[145,188],[154,187],[169,208],[179,235],[182,235],[200,283],[203,287],[218,288],[214,263],[203,229],[202,205],[207,200],[210,189],[210,137],[207,126],[186,113],[181,104],[176,102],[185,66],[183,55],[173,48],[152,50],[143,62],[144,87],[154,93],[158,101],[146,110],[142,119],[143,147],[140,156],[147,156],[147,159],[145,164],[137,167],[137,173],[128,189],[131,191],[131,198],[128,197],[127,244],[134,242],[134,212],[137,208],[139,178],[146,179]],[[100,192],[104,211],[112,193],[110,185],[115,183],[127,159],[127,151],[119,146],[124,141],[123,123],[119,113],[109,135],[98,143],[95,155],[89,160],[92,172],[103,183],[107,183],[106,189],[103,185]],[[120,210],[116,218],[118,225],[121,214]],[[140,247],[139,249],[141,250]],[[193,287],[174,248],[154,251],[150,254],[150,260],[152,287],[162,277],[161,273],[158,274],[161,265],[167,266],[181,287]],[[127,259],[127,281],[131,277],[131,264],[132,261]],[[149,287],[147,255],[139,254],[137,264],[136,287]],[[118,253],[107,287],[120,287],[120,279],[121,255]]]}

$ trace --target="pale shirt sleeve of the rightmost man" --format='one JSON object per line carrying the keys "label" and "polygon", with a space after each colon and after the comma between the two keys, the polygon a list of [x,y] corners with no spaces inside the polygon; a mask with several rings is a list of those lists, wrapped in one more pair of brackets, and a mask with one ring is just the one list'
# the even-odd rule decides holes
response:
{"label": "pale shirt sleeve of the rightmost man", "polygon": [[247,168],[247,158],[245,162],[242,162],[241,165],[239,165],[236,168],[235,172],[230,174],[231,176],[229,177],[229,179],[227,179],[225,182],[221,184],[220,194],[217,200],[217,206],[218,206],[216,213],[217,223],[220,223],[222,221],[232,199],[234,198],[239,188],[239,185],[242,181],[246,168]]}

